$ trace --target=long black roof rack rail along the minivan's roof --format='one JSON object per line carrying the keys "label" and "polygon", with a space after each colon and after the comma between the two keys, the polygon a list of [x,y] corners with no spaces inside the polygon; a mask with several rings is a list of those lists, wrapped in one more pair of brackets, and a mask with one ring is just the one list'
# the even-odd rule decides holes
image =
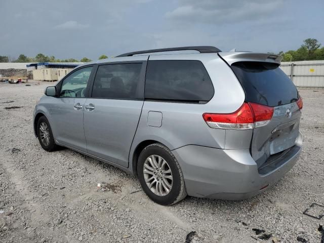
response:
{"label": "long black roof rack rail along the minivan's roof", "polygon": [[146,51],[137,51],[137,52],[129,52],[118,55],[116,57],[131,57],[137,54],[145,54],[145,53],[154,53],[154,52],[174,52],[174,51],[198,51],[200,53],[218,53],[221,52],[216,47],[211,46],[193,46],[193,47],[173,47],[173,48],[163,48],[163,49],[152,49]]}

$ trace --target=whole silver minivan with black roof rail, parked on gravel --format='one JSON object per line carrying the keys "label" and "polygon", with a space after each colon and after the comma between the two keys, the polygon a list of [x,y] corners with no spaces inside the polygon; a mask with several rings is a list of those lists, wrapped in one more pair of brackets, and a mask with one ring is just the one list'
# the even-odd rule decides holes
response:
{"label": "whole silver minivan with black roof rail, parked on gravel", "polygon": [[46,89],[34,133],[47,151],[64,146],[137,175],[161,205],[251,197],[302,148],[303,103],[281,59],[204,46],[84,63]]}

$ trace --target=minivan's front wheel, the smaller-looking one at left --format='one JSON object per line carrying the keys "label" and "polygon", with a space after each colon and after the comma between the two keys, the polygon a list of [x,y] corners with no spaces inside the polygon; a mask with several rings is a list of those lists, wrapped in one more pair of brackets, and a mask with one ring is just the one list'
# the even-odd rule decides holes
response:
{"label": "minivan's front wheel, the smaller-looking one at left", "polygon": [[37,121],[37,137],[39,143],[46,151],[57,149],[50,123],[45,116],[42,116]]}

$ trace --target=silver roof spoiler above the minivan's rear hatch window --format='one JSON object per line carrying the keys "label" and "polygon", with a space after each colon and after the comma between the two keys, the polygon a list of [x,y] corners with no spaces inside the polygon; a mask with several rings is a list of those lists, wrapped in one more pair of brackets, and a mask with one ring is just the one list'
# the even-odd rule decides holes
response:
{"label": "silver roof spoiler above the minivan's rear hatch window", "polygon": [[228,65],[234,62],[270,62],[280,65],[282,57],[269,53],[254,52],[219,52],[218,55],[225,60]]}

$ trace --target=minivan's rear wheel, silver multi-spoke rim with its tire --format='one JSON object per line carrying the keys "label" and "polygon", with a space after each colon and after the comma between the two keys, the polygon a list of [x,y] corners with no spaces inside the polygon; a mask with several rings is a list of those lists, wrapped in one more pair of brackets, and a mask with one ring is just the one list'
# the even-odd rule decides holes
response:
{"label": "minivan's rear wheel, silver multi-spoke rim with its tire", "polygon": [[162,144],[154,143],[143,149],[137,174],[143,190],[155,203],[172,205],[187,195],[178,160]]}

